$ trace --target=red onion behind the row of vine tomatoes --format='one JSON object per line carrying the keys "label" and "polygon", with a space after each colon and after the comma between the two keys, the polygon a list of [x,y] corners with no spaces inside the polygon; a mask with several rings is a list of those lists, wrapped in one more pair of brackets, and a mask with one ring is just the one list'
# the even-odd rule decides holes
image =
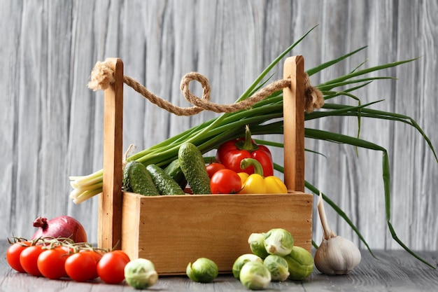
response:
{"label": "red onion behind the row of vine tomatoes", "polygon": [[38,217],[34,221],[34,227],[38,227],[38,230],[36,230],[32,239],[38,237],[67,237],[73,242],[87,242],[87,233],[83,225],[70,216],[59,216],[50,220]]}

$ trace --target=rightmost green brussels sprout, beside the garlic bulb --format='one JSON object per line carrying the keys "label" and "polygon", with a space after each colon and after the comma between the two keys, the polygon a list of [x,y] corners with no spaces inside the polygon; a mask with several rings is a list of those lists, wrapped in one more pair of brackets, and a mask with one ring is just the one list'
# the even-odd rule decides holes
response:
{"label": "rightmost green brussels sprout, beside the garlic bulb", "polygon": [[288,262],[289,279],[293,281],[302,280],[313,271],[313,256],[309,251],[300,246],[294,246],[292,251],[284,256]]}

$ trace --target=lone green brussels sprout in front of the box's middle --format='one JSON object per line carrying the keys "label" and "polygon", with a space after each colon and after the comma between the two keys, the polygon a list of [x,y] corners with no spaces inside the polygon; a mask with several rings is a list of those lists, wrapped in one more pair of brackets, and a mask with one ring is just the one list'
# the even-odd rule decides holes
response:
{"label": "lone green brussels sprout in front of the box's middle", "polygon": [[209,283],[218,277],[219,270],[213,260],[198,258],[194,263],[187,265],[185,273],[192,281]]}

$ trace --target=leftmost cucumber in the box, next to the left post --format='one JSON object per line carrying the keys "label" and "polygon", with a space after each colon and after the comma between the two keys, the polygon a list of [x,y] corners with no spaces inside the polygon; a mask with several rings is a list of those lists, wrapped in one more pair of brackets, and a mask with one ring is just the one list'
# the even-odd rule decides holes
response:
{"label": "leftmost cucumber in the box, next to the left post", "polygon": [[123,169],[123,188],[140,195],[160,195],[146,166],[135,160],[127,162]]}

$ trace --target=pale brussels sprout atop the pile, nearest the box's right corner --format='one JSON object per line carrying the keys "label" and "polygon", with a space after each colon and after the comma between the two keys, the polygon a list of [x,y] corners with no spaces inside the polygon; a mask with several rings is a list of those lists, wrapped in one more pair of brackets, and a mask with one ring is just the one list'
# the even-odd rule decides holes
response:
{"label": "pale brussels sprout atop the pile, nearest the box's right corner", "polygon": [[294,238],[283,228],[271,229],[264,236],[264,248],[269,254],[285,256],[292,251],[293,246]]}

